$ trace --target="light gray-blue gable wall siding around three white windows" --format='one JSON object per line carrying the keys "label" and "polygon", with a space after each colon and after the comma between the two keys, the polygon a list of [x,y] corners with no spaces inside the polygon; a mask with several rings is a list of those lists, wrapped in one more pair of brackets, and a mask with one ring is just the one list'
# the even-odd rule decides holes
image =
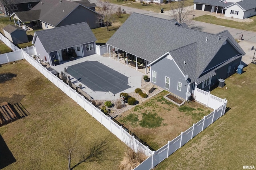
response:
{"label": "light gray-blue gable wall siding around three white windows", "polygon": [[[152,82],[152,71],[156,72],[156,83]],[[167,90],[168,92],[171,92],[172,94],[180,96],[181,98],[186,100],[188,83],[184,80],[185,77],[173,60],[163,57],[163,59],[151,65],[150,72],[150,80],[153,84],[156,84],[164,90]],[[165,88],[165,77],[170,78],[169,90]],[[178,82],[182,83],[181,91],[177,90]]]}

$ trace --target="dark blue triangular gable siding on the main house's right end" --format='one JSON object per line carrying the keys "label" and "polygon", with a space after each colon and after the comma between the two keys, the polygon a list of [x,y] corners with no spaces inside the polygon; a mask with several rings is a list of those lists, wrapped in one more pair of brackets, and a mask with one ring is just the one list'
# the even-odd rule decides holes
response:
{"label": "dark blue triangular gable siding on the main house's right end", "polygon": [[222,45],[218,53],[212,59],[212,61],[208,64],[204,71],[212,69],[219,65],[220,63],[224,63],[228,59],[238,55],[238,51],[228,42],[226,41],[225,45]]}

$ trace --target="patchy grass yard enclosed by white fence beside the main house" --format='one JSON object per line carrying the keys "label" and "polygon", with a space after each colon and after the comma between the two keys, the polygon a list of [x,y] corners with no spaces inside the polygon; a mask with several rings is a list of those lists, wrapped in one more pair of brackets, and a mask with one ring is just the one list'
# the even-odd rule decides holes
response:
{"label": "patchy grass yard enclosed by white fence beside the main house", "polygon": [[125,127],[156,150],[212,111],[196,102],[178,107],[163,97],[166,94],[168,92],[164,90],[124,112],[122,117],[117,117]]}

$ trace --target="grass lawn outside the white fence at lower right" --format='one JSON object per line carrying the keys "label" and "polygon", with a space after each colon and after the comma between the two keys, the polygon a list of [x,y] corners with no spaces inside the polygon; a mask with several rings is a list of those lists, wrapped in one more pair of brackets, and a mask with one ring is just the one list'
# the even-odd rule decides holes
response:
{"label": "grass lawn outside the white fence at lower right", "polygon": [[[211,94],[228,100],[230,110],[157,166],[166,169],[230,169],[256,166],[256,65],[225,80]],[[226,89],[226,87],[228,89]]]}

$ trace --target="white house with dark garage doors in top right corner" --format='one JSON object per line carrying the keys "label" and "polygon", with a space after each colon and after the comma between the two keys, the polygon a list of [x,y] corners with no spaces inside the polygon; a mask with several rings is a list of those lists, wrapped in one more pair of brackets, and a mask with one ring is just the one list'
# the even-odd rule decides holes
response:
{"label": "white house with dark garage doors in top right corner", "polygon": [[194,0],[194,10],[224,14],[239,19],[256,15],[255,0]]}

